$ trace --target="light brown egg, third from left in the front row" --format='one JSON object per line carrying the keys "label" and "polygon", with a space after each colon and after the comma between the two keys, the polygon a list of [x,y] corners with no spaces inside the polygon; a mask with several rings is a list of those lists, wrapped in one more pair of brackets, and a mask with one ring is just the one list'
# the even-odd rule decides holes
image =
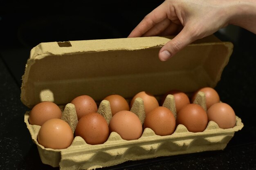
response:
{"label": "light brown egg, third from left in the front row", "polygon": [[117,132],[122,139],[139,139],[142,135],[142,125],[139,117],[128,110],[117,112],[109,123],[110,132]]}

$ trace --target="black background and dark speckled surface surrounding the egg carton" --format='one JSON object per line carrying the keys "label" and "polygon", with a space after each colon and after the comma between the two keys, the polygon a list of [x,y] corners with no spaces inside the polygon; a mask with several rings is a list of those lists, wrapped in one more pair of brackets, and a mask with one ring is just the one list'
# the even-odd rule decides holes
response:
{"label": "black background and dark speckled surface surrounding the egg carton", "polygon": [[[105,1],[104,1],[105,2]],[[68,1],[51,4],[9,1],[0,5],[0,169],[58,169],[41,163],[24,123],[28,108],[20,102],[21,76],[32,47],[40,42],[125,38],[159,1]],[[115,5],[114,5],[115,4]],[[244,127],[225,150],[128,161],[102,168],[129,170],[256,170],[256,35],[231,27],[216,33],[234,43],[234,51],[216,90],[234,108]]]}

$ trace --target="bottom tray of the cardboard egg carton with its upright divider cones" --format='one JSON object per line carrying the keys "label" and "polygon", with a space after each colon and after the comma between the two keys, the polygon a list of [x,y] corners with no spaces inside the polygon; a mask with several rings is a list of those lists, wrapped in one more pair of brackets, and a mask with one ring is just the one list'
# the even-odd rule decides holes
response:
{"label": "bottom tray of the cardboard egg carton with its upright divider cones", "polygon": [[[206,110],[204,93],[199,92],[194,103],[200,104]],[[163,106],[169,108],[176,117],[173,95],[167,95]],[[70,124],[74,132],[77,124],[74,105],[69,103],[60,108],[63,110],[62,119]],[[130,111],[135,113],[143,124],[145,112],[141,98],[135,99]],[[98,113],[103,115],[108,123],[110,122],[112,115],[108,101],[103,100],[99,104]],[[214,121],[209,121],[203,132],[189,132],[184,125],[179,124],[173,134],[166,136],[155,135],[153,130],[145,128],[141,137],[136,140],[124,140],[116,132],[111,132],[104,144],[86,144],[83,138],[76,136],[68,148],[51,149],[38,144],[37,135],[40,126],[30,125],[28,119],[29,111],[25,113],[25,123],[32,140],[37,145],[41,161],[50,166],[59,167],[60,170],[92,170],[126,161],[223,150],[234,133],[243,128],[241,119],[236,116],[236,126],[228,129],[219,128]]]}

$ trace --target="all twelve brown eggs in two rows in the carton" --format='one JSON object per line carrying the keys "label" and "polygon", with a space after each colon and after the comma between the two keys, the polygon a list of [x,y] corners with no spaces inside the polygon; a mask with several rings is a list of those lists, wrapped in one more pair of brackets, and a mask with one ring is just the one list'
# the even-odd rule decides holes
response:
{"label": "all twelve brown eggs in two rows in the carton", "polygon": [[[207,110],[194,104],[196,94],[205,94]],[[177,117],[162,106],[167,95],[173,95]],[[145,119],[141,121],[130,108],[137,97],[143,99]],[[78,123],[73,132],[69,124],[61,119],[62,111],[53,102],[40,102],[29,113],[29,124],[41,126],[38,143],[45,148],[63,149],[72,144],[74,136],[82,137],[87,144],[103,144],[111,132],[117,132],[122,139],[139,139],[145,128],[151,128],[156,135],[171,135],[178,124],[183,124],[190,132],[202,132],[209,121],[215,121],[220,128],[232,128],[236,125],[234,110],[220,102],[218,93],[210,87],[201,88],[191,98],[178,90],[167,92],[160,102],[150,93],[137,93],[130,105],[121,95],[109,95],[104,100],[110,102],[112,118],[110,122],[97,113],[97,104],[88,95],[74,98],[71,103],[76,108]]]}

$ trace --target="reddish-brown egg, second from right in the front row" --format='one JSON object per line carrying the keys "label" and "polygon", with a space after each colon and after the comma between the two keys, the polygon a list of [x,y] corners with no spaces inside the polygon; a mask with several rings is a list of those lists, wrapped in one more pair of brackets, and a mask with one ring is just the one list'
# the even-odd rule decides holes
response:
{"label": "reddish-brown egg, second from right in the front row", "polygon": [[177,113],[176,125],[183,124],[190,132],[202,132],[208,125],[207,113],[198,104],[188,104]]}

